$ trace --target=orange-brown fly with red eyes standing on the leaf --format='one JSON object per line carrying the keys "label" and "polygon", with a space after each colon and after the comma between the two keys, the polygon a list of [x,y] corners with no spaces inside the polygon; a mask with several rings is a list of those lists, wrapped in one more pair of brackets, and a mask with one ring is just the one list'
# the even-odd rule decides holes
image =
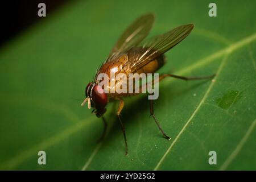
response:
{"label": "orange-brown fly with red eyes standing on the leaf", "polygon": [[[114,48],[110,52],[108,59],[101,65],[97,70],[96,76],[92,82],[86,86],[85,94],[86,98],[82,102],[82,106],[88,102],[88,109],[93,107],[93,114],[97,117],[101,117],[104,122],[104,132],[102,137],[104,137],[106,132],[106,121],[102,115],[106,112],[106,105],[111,101],[119,101],[119,106],[117,110],[117,117],[119,119],[123,137],[125,139],[125,146],[127,155],[128,147],[125,134],[125,126],[121,120],[120,114],[124,106],[123,97],[133,96],[134,93],[105,93],[104,88],[101,88],[97,77],[100,73],[106,73],[109,76],[109,82],[111,80],[110,73],[114,70],[115,73],[124,73],[127,77],[129,73],[155,73],[159,68],[161,68],[165,63],[164,53],[167,52],[172,47],[176,46],[181,40],[185,39],[192,31],[194,24],[185,24],[174,28],[165,34],[155,36],[154,38],[146,41],[142,41],[151,30],[152,24],[154,22],[153,14],[146,14],[139,17],[135,22],[133,22],[126,30],[123,32],[121,37],[118,39]],[[214,76],[214,75],[213,75]],[[163,80],[165,77],[180,78],[182,80],[197,80],[208,77],[183,77],[176,76],[172,74],[163,74],[159,76],[159,80]],[[116,84],[116,83],[115,83]],[[141,86],[142,87],[142,86]],[[154,118],[156,125],[162,132],[164,138],[170,140],[166,133],[164,133],[159,122],[156,120],[154,115],[154,109],[152,100],[150,100],[150,115]],[[102,138],[101,137],[101,138]]]}

